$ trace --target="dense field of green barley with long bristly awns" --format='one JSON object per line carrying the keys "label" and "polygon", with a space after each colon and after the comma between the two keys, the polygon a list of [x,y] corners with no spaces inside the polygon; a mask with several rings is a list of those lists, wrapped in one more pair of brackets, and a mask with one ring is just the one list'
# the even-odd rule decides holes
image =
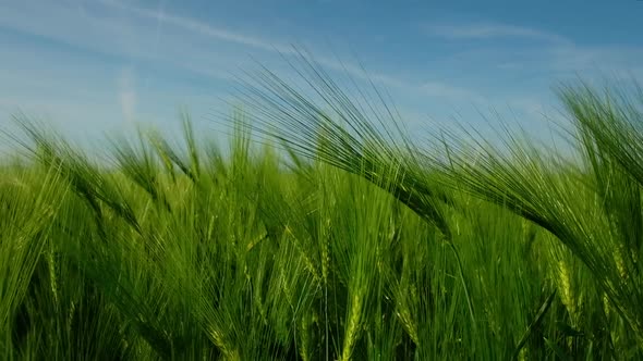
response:
{"label": "dense field of green barley with long bristly awns", "polygon": [[266,72],[226,155],[186,120],[183,147],[141,133],[106,167],[19,120],[0,357],[643,357],[643,97],[562,89],[566,159],[421,148],[308,74],[336,117]]}

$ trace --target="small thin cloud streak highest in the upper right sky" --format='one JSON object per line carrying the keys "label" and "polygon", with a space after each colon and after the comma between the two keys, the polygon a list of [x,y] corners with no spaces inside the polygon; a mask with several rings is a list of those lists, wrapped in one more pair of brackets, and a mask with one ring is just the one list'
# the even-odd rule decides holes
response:
{"label": "small thin cloud streak highest in the upper right sky", "polygon": [[523,38],[556,43],[570,42],[569,39],[554,33],[498,23],[436,24],[425,26],[425,30],[430,36],[447,39]]}

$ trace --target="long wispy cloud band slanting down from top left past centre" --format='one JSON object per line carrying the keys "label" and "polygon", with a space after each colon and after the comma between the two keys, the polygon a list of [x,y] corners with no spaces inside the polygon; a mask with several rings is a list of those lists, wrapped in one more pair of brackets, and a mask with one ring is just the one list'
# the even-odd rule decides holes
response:
{"label": "long wispy cloud band slanting down from top left past centre", "polygon": [[[24,22],[24,18],[39,21]],[[0,25],[125,60],[166,64],[213,80],[230,80],[231,74],[240,65],[252,61],[247,57],[252,50],[264,52],[257,57],[260,61],[277,59],[279,54],[292,57],[298,53],[292,46],[276,39],[173,14],[162,3],[157,8],[143,8],[118,0],[69,0],[57,5],[38,7],[16,4],[0,13]],[[185,41],[186,38],[191,41]],[[343,73],[362,82],[372,80],[393,92],[452,100],[457,100],[458,96],[472,98],[465,89],[457,90],[457,87],[447,83],[441,84],[444,92],[440,94],[435,85],[423,85],[421,77],[407,79],[395,74],[365,71],[356,62],[339,61],[319,55],[316,49],[308,46],[305,48],[311,50],[315,61],[326,70]],[[190,57],[184,57],[185,53],[190,53]],[[139,91],[147,91],[147,75],[143,75],[142,80],[144,88]],[[137,96],[123,92],[120,102],[135,103],[139,98]]]}

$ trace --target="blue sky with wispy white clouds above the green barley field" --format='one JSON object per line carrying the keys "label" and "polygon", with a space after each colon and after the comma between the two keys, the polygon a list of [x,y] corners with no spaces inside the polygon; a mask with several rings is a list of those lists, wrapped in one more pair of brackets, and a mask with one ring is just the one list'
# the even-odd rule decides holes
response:
{"label": "blue sky with wispy white clouds above the green barley field", "polygon": [[361,62],[412,129],[482,127],[493,108],[541,132],[558,82],[643,79],[642,35],[638,0],[0,0],[0,116],[94,139],[133,122],[174,132],[186,107],[217,133],[232,76],[254,61],[288,75],[278,51],[295,43],[364,82]]}

